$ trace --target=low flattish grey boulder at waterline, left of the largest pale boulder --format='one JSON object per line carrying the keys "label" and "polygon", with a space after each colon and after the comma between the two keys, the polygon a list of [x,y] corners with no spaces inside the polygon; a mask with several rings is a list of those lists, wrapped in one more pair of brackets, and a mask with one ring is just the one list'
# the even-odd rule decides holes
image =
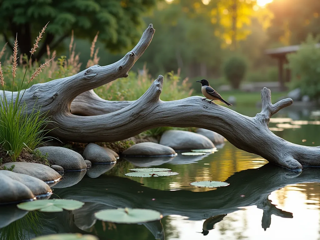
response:
{"label": "low flattish grey boulder at waterline, left of the largest pale boulder", "polygon": [[172,156],[175,154],[172,148],[154,142],[137,143],[122,152],[124,156]]}

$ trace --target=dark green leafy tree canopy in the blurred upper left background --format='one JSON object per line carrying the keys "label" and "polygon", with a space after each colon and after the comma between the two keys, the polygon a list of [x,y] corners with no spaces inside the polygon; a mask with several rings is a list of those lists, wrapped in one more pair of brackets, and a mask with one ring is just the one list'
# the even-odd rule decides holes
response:
{"label": "dark green leafy tree canopy in the blurred upper left background", "polygon": [[142,14],[155,4],[156,0],[1,0],[0,31],[7,42],[17,34],[20,53],[29,56],[32,40],[50,21],[35,59],[47,45],[56,48],[72,29],[75,36],[91,40],[100,31],[100,41],[116,52],[136,44]]}

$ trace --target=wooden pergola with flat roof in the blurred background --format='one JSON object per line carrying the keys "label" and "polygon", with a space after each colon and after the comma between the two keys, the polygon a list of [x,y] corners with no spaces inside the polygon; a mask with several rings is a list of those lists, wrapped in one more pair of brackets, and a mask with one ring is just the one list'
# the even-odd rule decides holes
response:
{"label": "wooden pergola with flat roof in the blurred background", "polygon": [[[285,82],[290,82],[290,69],[286,69],[284,76],[284,64],[288,63],[286,55],[288,53],[297,52],[300,49],[301,45],[292,45],[286,47],[279,47],[266,50],[266,54],[271,56],[272,58],[276,58],[278,60],[278,81],[280,83],[280,90],[284,91]],[[316,47],[319,48],[320,44],[316,44]]]}

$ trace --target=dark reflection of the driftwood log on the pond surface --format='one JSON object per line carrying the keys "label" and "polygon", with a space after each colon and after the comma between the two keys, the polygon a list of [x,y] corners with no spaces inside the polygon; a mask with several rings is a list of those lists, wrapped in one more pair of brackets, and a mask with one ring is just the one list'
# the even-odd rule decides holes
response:
{"label": "dark reflection of the driftwood log on the pond surface", "polygon": [[[95,180],[85,178],[76,186],[59,189],[57,192],[63,198],[88,202],[92,209],[95,204],[99,209],[148,208],[157,210],[164,216],[181,215],[190,220],[204,220],[238,211],[240,207],[256,205],[263,210],[262,227],[268,228],[271,215],[292,218],[291,213],[271,204],[268,200],[270,193],[289,184],[320,182],[320,168],[292,172],[266,164],[257,169],[236,172],[226,181],[230,183],[228,187],[212,191],[170,191],[148,188],[128,178],[103,175]],[[91,214],[93,213],[94,211]],[[91,224],[86,226],[88,225]]]}

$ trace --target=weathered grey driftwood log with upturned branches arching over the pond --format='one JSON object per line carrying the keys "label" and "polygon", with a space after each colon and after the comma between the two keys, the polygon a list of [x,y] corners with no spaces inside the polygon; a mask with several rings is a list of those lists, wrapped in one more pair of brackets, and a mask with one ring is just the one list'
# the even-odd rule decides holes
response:
{"label": "weathered grey driftwood log with upturned branches arching over the pond", "polygon": [[161,101],[161,75],[136,101],[106,101],[98,97],[92,89],[128,76],[154,32],[150,24],[139,43],[116,63],[92,66],[74,76],[31,86],[23,96],[28,110],[36,103],[42,111],[49,111],[53,122],[48,127],[54,129],[51,134],[62,140],[111,142],[157,126],[200,127],[220,133],[237,148],[289,169],[320,166],[320,147],[292,144],[269,131],[270,117],[293,101],[284,99],[271,104],[267,88],[261,91],[262,111],[255,117],[203,102],[201,97]]}

